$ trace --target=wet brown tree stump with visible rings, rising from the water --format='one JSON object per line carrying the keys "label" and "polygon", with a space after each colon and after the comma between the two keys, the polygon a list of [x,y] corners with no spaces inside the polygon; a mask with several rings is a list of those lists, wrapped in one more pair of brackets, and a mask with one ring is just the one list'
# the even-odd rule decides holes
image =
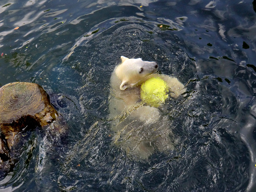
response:
{"label": "wet brown tree stump with visible rings, rising from the water", "polygon": [[26,127],[42,127],[58,116],[49,95],[38,84],[9,83],[0,88],[0,158],[8,160],[16,135]]}

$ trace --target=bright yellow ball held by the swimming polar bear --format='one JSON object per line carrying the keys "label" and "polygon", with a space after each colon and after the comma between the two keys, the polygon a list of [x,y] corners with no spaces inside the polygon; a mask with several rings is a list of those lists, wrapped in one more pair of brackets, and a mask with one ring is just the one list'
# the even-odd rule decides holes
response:
{"label": "bright yellow ball held by the swimming polar bear", "polygon": [[152,77],[141,85],[141,99],[152,107],[159,107],[168,98],[168,85],[159,77]]}

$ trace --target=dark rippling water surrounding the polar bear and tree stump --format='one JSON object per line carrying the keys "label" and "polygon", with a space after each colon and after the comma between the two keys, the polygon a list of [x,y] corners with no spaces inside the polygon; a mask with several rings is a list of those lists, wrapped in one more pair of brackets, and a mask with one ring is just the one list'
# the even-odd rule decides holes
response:
{"label": "dark rippling water surrounding the polar bear and tree stump", "polygon": [[[0,86],[42,85],[69,130],[59,141],[39,128],[22,137],[0,190],[256,191],[255,4],[2,0]],[[174,150],[137,160],[112,143],[109,80],[121,55],[186,84],[165,106]]]}

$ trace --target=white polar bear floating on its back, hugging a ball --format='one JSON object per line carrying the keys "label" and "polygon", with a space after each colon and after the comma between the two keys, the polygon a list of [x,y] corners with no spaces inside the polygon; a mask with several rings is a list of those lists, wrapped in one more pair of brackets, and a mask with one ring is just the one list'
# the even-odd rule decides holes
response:
{"label": "white polar bear floating on its back, hugging a ball", "polygon": [[166,151],[173,148],[169,121],[158,108],[141,102],[141,84],[151,77],[160,77],[170,88],[170,96],[176,98],[186,91],[177,78],[155,73],[156,62],[141,58],[128,59],[121,56],[122,63],[111,75],[109,119],[115,132],[114,143],[121,146],[127,155],[148,158],[157,148]]}

